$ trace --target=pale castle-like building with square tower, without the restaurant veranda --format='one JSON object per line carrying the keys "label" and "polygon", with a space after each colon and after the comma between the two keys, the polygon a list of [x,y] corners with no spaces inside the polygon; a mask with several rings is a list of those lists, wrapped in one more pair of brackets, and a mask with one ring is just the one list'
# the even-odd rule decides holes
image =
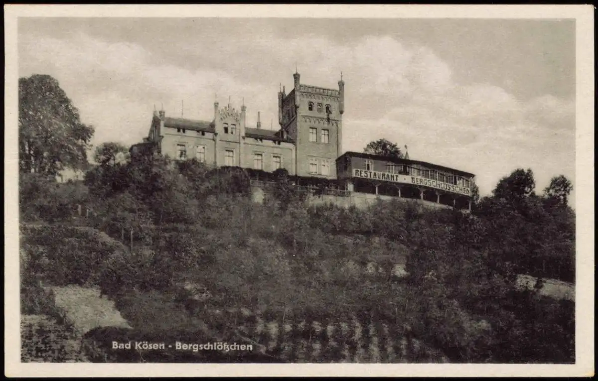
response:
{"label": "pale castle-like building with square tower, without the restaurant veranda", "polygon": [[166,116],[155,111],[144,143],[132,153],[157,149],[178,160],[196,158],[215,167],[236,166],[274,171],[286,168],[294,176],[336,178],[335,159],[341,152],[341,116],[344,82],[338,90],[300,84],[278,93],[278,130],[261,128],[260,113],[254,127],[246,125],[245,104],[240,110],[214,103],[212,121]]}

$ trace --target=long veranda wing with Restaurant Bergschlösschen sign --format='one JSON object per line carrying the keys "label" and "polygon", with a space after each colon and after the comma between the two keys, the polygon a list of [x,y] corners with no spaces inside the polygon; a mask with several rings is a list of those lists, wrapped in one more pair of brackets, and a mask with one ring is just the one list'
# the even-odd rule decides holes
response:
{"label": "long veranda wing with Restaurant Bergschl\u00f6sschen sign", "polygon": [[350,193],[413,198],[471,209],[475,175],[423,161],[345,152],[337,177]]}

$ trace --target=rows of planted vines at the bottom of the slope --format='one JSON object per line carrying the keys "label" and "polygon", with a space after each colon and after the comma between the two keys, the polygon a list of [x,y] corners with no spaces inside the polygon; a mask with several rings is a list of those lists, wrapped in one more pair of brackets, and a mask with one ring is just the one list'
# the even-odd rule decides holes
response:
{"label": "rows of planted vines at the bottom of the slope", "polygon": [[342,321],[250,317],[239,333],[284,362],[449,362],[440,351],[410,337],[402,325],[365,314]]}

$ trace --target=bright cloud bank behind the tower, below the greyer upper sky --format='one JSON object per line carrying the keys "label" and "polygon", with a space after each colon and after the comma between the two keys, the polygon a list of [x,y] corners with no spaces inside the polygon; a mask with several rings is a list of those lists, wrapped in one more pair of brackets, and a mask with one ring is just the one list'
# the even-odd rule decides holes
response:
{"label": "bright cloud bank behind the tower, below the greyer upper sky", "polygon": [[[213,34],[213,33],[212,33]],[[575,174],[575,102],[553,94],[517,99],[496,84],[457,83],[449,63],[422,45],[393,36],[363,36],[341,45],[325,36],[278,38],[247,30],[214,39],[193,36],[157,49],[151,43],[107,42],[83,32],[66,38],[19,36],[20,75],[53,75],[96,127],[94,143],[139,142],[154,105],[211,120],[222,104],[248,106],[277,120],[279,82],[337,87],[346,82],[344,149],[362,150],[385,137],[410,156],[477,174],[482,193],[517,167],[535,171],[538,190],[550,177]],[[273,123],[274,124],[274,123]],[[274,124],[276,128],[276,124]]]}

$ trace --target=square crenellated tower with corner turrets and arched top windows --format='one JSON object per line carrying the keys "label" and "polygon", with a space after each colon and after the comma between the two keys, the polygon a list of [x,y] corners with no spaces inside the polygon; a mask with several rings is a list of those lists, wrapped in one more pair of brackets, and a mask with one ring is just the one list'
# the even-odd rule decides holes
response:
{"label": "square crenellated tower with corner turrets and arched top windows", "polygon": [[300,82],[293,74],[294,88],[279,91],[279,123],[295,141],[295,173],[299,176],[336,178],[335,161],[341,154],[341,115],[344,112],[344,81],[338,90]]}

